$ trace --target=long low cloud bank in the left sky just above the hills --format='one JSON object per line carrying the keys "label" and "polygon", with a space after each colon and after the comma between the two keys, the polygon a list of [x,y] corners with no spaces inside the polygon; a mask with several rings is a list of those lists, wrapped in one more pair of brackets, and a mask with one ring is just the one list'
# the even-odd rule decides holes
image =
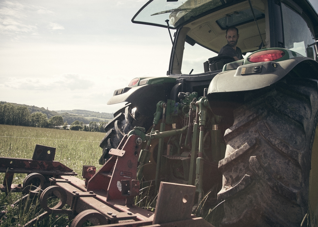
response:
{"label": "long low cloud bank in the left sky just above the hills", "polygon": [[9,78],[0,87],[18,90],[85,90],[94,82],[78,74],[65,73],[56,78]]}

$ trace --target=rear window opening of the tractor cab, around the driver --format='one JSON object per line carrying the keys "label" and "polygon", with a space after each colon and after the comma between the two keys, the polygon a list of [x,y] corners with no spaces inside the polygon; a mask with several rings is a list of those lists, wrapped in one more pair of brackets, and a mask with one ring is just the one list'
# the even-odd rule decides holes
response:
{"label": "rear window opening of the tractor cab, around the driver", "polygon": [[251,4],[258,26],[248,1],[233,4],[184,25],[176,46],[179,62],[174,59],[172,74],[189,74],[192,69],[192,75],[222,70],[222,64],[210,67],[208,59],[217,56],[220,49],[227,45],[225,33],[232,26],[239,30],[237,47],[243,55],[258,50],[262,41],[263,48],[266,48],[269,40],[269,36],[266,39],[267,1],[251,0]]}

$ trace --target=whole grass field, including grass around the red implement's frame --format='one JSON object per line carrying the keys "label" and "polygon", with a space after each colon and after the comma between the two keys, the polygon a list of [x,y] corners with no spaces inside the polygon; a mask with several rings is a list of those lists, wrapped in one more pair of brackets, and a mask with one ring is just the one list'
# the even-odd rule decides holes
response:
{"label": "whole grass field, including grass around the red implement's frame", "polygon": [[[36,144],[55,147],[55,161],[73,169],[81,178],[83,165],[100,168],[98,160],[102,149],[99,143],[104,136],[100,132],[0,125],[0,156],[31,159]],[[4,173],[0,173],[0,183],[3,182],[3,177]],[[15,174],[12,183],[23,183],[24,177],[24,174]],[[8,196],[5,193],[0,194],[1,227],[22,226],[43,213],[43,210],[35,209],[38,206],[36,198],[13,207],[12,204],[20,196],[20,193],[9,193]],[[38,222],[36,226],[58,227],[68,224],[65,215],[53,215]]]}

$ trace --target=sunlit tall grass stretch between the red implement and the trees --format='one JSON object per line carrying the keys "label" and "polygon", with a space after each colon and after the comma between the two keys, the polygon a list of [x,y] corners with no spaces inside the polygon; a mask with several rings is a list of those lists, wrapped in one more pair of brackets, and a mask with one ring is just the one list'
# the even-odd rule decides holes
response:
{"label": "sunlit tall grass stretch between the red implement and the trees", "polygon": [[82,165],[99,167],[100,132],[0,125],[0,156],[32,158],[36,144],[56,148],[55,161],[81,174]]}

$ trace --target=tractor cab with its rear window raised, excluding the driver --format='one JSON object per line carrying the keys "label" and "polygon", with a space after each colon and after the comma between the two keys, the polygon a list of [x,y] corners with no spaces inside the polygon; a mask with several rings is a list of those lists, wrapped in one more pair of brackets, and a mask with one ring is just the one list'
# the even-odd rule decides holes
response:
{"label": "tractor cab with its rear window raised, excluding the driver", "polygon": [[[174,41],[167,75],[179,79],[194,75],[211,81],[234,61],[213,58],[227,44],[225,32],[230,27],[239,30],[237,47],[244,58],[259,49],[279,47],[317,60],[318,16],[305,0],[153,0],[132,22],[176,30],[171,32]],[[236,69],[243,62],[229,68]]]}

